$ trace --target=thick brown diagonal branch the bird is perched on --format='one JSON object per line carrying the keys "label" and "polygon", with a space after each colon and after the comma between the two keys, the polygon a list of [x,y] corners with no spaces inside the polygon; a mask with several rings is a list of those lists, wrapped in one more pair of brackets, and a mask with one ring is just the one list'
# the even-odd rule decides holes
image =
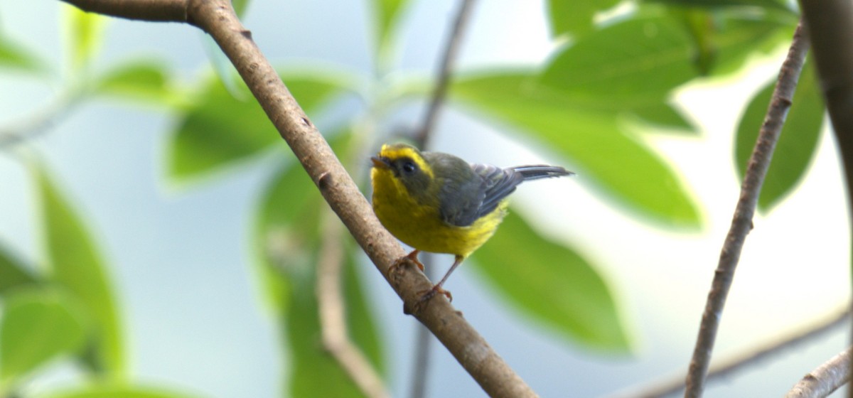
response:
{"label": "thick brown diagonal branch the bird is perched on", "polygon": [[[161,0],[162,13],[158,13],[156,7],[142,8],[142,4],[158,4],[157,0],[64,1],[84,11],[97,10],[131,19],[136,15],[128,10],[141,9],[141,19],[187,22],[210,34],[240,73],[281,137],[287,141],[328,205],[403,299],[403,309],[410,312],[420,298],[418,291],[432,288],[432,283],[414,267],[388,274],[392,263],[406,254],[403,247],[382,228],[367,199],[252,41],[252,32],[241,25],[228,0],[185,0],[184,13],[173,9],[178,0]],[[536,396],[446,299],[432,299],[430,305],[415,317],[438,337],[490,396]]]}

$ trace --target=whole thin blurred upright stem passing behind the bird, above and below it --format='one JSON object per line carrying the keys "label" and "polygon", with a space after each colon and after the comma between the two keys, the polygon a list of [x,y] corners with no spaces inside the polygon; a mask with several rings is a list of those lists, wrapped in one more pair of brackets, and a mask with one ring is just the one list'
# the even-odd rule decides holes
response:
{"label": "whole thin blurred upright stem passing behind the bird, above and below it", "polygon": [[[447,97],[447,88],[450,85],[453,66],[456,63],[456,56],[459,54],[463,32],[467,28],[468,20],[471,19],[473,3],[473,0],[462,0],[459,10],[456,11],[456,19],[453,22],[450,35],[447,37],[447,42],[444,43],[444,55],[441,58],[441,66],[438,70],[435,88],[432,90],[432,98],[424,115],[423,124],[421,124],[421,128],[417,130],[415,135],[415,146],[421,149],[429,147],[429,141],[432,138],[435,124],[438,121],[438,111]],[[432,267],[434,259],[435,257],[432,254],[427,254],[423,258],[423,263],[426,265],[427,277],[431,280],[433,278],[432,274],[434,274],[434,267]],[[423,398],[427,396],[431,343],[432,336],[430,332],[424,327],[418,327],[417,332],[415,332],[415,359],[412,362],[410,398]]]}

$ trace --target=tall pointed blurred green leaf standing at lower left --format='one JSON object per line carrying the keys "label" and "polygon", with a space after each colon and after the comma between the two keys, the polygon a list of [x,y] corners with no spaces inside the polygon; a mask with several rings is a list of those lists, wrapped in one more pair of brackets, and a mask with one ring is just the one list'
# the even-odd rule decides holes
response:
{"label": "tall pointed blurred green leaf standing at lower left", "polygon": [[96,372],[121,375],[125,372],[124,342],[107,265],[80,216],[45,170],[37,170],[36,186],[44,216],[49,277],[77,297],[92,320],[91,355],[86,361]]}

